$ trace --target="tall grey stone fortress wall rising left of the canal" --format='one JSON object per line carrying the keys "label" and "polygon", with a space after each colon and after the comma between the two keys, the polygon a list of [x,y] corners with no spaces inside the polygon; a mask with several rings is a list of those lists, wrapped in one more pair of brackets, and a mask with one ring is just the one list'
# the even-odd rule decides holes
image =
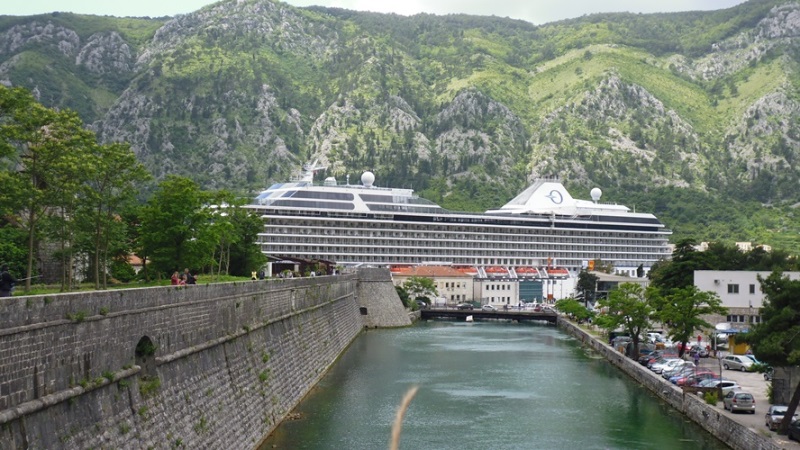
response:
{"label": "tall grey stone fortress wall rising left of the canal", "polygon": [[365,325],[392,322],[380,310],[392,299],[359,299],[365,312],[358,283],[2,299],[0,448],[254,448]]}

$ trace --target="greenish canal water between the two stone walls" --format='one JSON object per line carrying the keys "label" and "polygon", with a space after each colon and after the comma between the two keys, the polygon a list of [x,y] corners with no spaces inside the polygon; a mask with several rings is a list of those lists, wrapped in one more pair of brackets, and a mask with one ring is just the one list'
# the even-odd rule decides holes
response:
{"label": "greenish canal water between the two stone walls", "polygon": [[552,325],[431,321],[359,336],[261,447],[726,449]]}

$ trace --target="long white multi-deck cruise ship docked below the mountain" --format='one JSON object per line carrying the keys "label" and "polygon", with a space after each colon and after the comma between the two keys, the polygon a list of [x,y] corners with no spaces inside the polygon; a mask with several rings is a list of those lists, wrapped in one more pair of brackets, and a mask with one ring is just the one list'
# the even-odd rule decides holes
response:
{"label": "long white multi-deck cruise ship docked below the mountain", "polygon": [[324,169],[308,164],[297,180],[261,192],[247,205],[264,219],[258,242],[275,258],[325,260],[342,266],[395,264],[566,268],[573,276],[611,263],[636,275],[671,256],[671,231],[653,215],[622,205],[574,199],[557,180],[537,180],[499,209],[448,211],[411,189],[361,184],[333,177],[314,183]]}

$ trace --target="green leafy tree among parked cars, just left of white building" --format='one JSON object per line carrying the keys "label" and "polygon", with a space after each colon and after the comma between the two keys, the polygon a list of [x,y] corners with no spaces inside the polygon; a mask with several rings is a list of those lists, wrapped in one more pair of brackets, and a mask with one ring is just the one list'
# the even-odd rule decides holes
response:
{"label": "green leafy tree among parked cars, just left of white building", "polygon": [[711,324],[702,316],[725,314],[728,311],[717,294],[700,291],[693,285],[673,289],[663,297],[654,295],[652,303],[658,311],[658,319],[669,326],[670,339],[682,344],[678,350],[680,357],[686,352],[687,344],[696,332],[711,328]]}

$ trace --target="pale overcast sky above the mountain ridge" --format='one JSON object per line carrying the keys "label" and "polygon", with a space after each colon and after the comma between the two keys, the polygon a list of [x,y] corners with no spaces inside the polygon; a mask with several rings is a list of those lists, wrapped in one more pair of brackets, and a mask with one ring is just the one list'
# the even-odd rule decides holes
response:
{"label": "pale overcast sky above the mountain ridge", "polygon": [[[0,0],[0,15],[53,11],[109,16],[174,16],[196,11],[212,0]],[[729,8],[743,0],[286,0],[295,6],[335,6],[358,11],[412,15],[473,14],[511,17],[534,24],[597,12],[653,13]]]}

